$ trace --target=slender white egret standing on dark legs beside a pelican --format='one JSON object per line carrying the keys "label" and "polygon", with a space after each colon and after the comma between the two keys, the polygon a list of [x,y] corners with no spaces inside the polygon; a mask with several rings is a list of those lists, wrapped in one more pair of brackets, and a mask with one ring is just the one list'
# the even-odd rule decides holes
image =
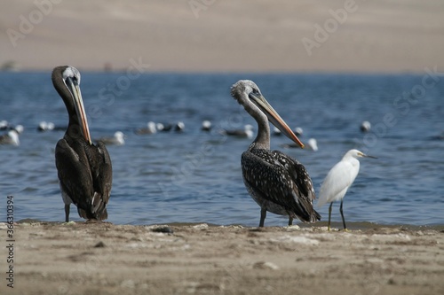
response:
{"label": "slender white egret standing on dark legs beside a pelican", "polygon": [[341,200],[341,206],[339,212],[341,213],[342,222],[344,224],[344,230],[347,230],[345,225],[344,213],[342,211],[342,204],[345,193],[348,188],[354,182],[354,179],[360,171],[360,161],[358,158],[373,158],[368,156],[362,151],[350,150],[347,151],[344,157],[334,167],[331,168],[329,173],[322,182],[321,191],[319,194],[319,200],[317,206],[322,206],[325,203],[330,203],[329,206],[329,230],[330,230],[330,218],[331,218],[331,206],[333,202]]}

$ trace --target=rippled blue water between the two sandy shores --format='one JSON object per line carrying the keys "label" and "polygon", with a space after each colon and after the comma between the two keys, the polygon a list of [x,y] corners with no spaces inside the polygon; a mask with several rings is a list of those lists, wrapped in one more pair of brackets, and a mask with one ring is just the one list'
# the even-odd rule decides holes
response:
{"label": "rippled blue water between the two sandy shores", "polygon": [[[209,222],[257,226],[259,207],[242,182],[241,154],[250,139],[222,136],[220,128],[256,123],[230,97],[239,79],[262,93],[306,143],[319,151],[279,149],[302,162],[315,190],[345,151],[361,149],[361,172],[345,196],[348,222],[437,225],[444,223],[444,76],[424,74],[142,74],[82,73],[81,89],[91,136],[125,134],[109,146],[114,183],[108,221],[117,224]],[[64,131],[39,133],[40,121],[67,125],[67,111],[52,87],[51,73],[0,73],[0,120],[21,124],[20,146],[0,145],[0,221],[6,196],[14,217],[64,221],[54,148]],[[183,121],[182,133],[139,136],[147,121]],[[210,133],[201,131],[210,120]],[[373,129],[361,133],[362,120]],[[255,129],[256,130],[256,129]],[[4,131],[3,131],[4,132]],[[3,204],[2,204],[3,203]],[[332,221],[340,221],[336,204]],[[3,208],[3,209],[2,209]],[[328,206],[319,209],[328,219]],[[71,219],[81,221],[75,207]],[[266,226],[287,218],[268,213]]]}

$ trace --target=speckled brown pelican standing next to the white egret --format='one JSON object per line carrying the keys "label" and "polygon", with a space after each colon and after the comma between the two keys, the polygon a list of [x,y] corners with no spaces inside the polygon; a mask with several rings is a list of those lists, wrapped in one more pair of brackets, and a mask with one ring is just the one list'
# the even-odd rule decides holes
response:
{"label": "speckled brown pelican standing next to the white egret", "polygon": [[289,225],[295,217],[304,222],[321,220],[321,215],[313,209],[313,183],[305,167],[281,151],[270,151],[268,120],[300,147],[304,144],[268,104],[254,82],[236,82],[231,95],[258,122],[258,136],[242,153],[242,176],[251,198],[261,208],[259,227],[264,226],[267,211],[289,215]]}

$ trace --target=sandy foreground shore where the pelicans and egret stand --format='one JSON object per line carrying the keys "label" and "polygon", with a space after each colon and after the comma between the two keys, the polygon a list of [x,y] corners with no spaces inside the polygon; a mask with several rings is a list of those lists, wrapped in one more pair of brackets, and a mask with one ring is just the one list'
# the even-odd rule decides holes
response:
{"label": "sandy foreground shore where the pelicans and egret stand", "polygon": [[[2,260],[6,227],[2,223]],[[14,225],[2,294],[442,294],[442,229]],[[4,263],[2,273],[5,275]]]}

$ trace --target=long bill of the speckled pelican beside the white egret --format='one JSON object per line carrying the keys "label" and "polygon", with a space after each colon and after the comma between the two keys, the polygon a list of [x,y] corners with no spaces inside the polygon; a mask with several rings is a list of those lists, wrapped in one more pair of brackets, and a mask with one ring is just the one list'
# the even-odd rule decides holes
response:
{"label": "long bill of the speckled pelican beside the white egret", "polygon": [[289,125],[287,125],[287,123],[284,120],[282,120],[279,113],[274,111],[274,108],[270,104],[268,104],[268,102],[266,101],[266,97],[263,97],[260,93],[253,93],[253,92],[249,94],[249,97],[251,101],[253,101],[255,105],[258,105],[258,108],[266,114],[268,120],[270,120],[270,122],[272,122],[272,124],[276,128],[281,130],[281,132],[285,136],[289,137],[289,139],[291,139],[293,142],[295,142],[301,148],[304,149],[305,145],[302,144],[299,138],[297,138],[297,136],[293,133],[291,128],[289,128]]}

